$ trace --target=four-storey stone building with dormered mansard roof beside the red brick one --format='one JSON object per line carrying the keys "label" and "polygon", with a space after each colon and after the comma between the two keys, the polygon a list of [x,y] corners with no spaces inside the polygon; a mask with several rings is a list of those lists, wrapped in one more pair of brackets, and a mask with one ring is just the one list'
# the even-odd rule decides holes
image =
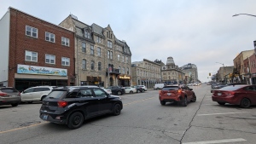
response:
{"label": "four-storey stone building with dormered mansard roof beside the red brick one", "polygon": [[59,26],[75,32],[77,85],[131,85],[131,50],[109,25],[89,26],[70,14]]}

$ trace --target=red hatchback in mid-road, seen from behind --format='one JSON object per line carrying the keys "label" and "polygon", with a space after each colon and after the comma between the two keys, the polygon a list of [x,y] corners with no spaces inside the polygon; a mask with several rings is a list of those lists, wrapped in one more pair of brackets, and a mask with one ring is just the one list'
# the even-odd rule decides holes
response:
{"label": "red hatchback in mid-road, seen from behind", "polygon": [[159,100],[161,105],[166,105],[166,102],[179,102],[187,107],[188,101],[196,101],[196,96],[193,89],[186,85],[167,85],[160,90]]}

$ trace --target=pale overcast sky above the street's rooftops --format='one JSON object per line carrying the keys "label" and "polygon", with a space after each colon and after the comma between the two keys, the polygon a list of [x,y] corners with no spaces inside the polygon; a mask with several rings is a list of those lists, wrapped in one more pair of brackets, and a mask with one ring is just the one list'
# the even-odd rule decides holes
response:
{"label": "pale overcast sky above the street's rooftops", "polygon": [[[210,80],[219,63],[233,66],[236,55],[254,49],[255,0],[0,0],[0,17],[9,7],[55,25],[74,14],[91,25],[111,26],[131,49],[131,61],[172,56],[177,66],[193,63],[199,79]],[[219,63],[216,63],[219,62]]]}

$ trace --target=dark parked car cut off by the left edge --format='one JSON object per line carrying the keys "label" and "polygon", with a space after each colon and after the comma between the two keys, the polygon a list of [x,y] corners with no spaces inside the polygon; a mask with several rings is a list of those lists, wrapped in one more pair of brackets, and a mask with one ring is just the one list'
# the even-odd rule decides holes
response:
{"label": "dark parked car cut off by the left edge", "polygon": [[21,101],[20,92],[12,87],[0,87],[0,106],[12,105],[17,107]]}

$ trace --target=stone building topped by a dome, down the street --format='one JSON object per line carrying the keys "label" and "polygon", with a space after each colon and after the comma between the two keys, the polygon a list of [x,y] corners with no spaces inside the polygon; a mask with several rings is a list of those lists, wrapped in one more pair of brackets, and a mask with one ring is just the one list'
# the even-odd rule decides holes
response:
{"label": "stone building topped by a dome, down the street", "polygon": [[172,56],[166,60],[166,66],[161,67],[162,81],[165,84],[183,84],[185,73],[175,65]]}

